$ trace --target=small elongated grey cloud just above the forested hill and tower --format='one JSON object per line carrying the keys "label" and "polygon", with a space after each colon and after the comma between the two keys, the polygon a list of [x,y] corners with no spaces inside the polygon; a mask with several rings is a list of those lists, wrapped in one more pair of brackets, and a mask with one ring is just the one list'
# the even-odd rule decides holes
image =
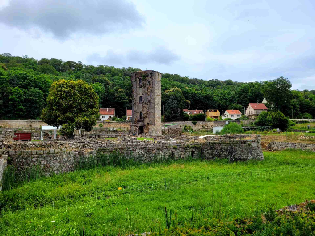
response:
{"label": "small elongated grey cloud just above the forested hill and tower", "polygon": [[125,54],[114,53],[112,50],[108,50],[106,56],[104,57],[100,54],[92,54],[87,57],[87,61],[89,62],[96,62],[105,65],[122,65],[123,63],[127,65],[130,65],[131,63],[158,63],[169,65],[179,59],[180,56],[163,47],[156,48],[150,52],[131,50]]}

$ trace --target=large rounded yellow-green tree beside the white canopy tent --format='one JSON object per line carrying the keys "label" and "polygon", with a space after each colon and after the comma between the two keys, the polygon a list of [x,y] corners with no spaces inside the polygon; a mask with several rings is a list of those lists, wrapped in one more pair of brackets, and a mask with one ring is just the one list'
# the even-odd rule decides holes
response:
{"label": "large rounded yellow-green tree beside the white canopy tent", "polygon": [[100,118],[99,97],[83,80],[58,80],[51,85],[42,120],[61,126],[60,133],[73,136],[73,130],[91,131]]}

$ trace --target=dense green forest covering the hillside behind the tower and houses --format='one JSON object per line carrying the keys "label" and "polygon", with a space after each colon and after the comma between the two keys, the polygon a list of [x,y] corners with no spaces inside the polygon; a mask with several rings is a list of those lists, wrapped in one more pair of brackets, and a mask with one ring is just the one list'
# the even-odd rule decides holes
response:
{"label": "dense green forest covering the hillside behind the tower and houses", "polygon": [[[0,55],[0,118],[39,118],[43,106],[47,106],[51,84],[59,80],[85,81],[99,96],[100,107],[115,108],[121,117],[126,107],[131,109],[130,75],[138,70],[3,53]],[[242,111],[241,107],[246,108],[247,103],[261,103],[265,97],[269,109],[279,110],[286,116],[291,117],[292,111],[294,118],[304,113],[315,116],[315,90],[291,90],[290,81],[282,76],[272,81],[243,83],[230,78],[206,81],[165,73],[161,90],[162,107],[173,96],[180,109],[218,109],[222,114],[231,107]]]}

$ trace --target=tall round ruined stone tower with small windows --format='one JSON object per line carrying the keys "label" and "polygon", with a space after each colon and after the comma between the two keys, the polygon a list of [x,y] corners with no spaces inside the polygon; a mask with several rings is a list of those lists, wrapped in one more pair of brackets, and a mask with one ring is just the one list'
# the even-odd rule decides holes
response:
{"label": "tall round ruined stone tower with small windows", "polygon": [[131,73],[134,133],[162,135],[161,77],[155,70]]}

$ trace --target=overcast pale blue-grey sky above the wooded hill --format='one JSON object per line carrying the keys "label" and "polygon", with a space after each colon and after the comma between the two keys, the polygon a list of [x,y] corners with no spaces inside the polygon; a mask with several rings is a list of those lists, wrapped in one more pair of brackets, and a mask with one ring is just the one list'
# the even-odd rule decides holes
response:
{"label": "overcast pale blue-grey sky above the wooded hill", "polygon": [[315,1],[0,0],[0,53],[315,89]]}

